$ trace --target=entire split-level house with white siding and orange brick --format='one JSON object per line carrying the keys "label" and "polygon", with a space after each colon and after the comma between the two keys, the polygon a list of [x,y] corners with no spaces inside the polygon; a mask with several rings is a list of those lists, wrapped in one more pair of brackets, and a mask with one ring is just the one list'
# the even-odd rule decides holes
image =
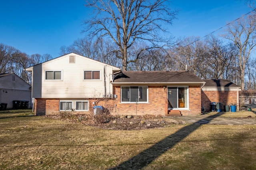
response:
{"label": "entire split-level house with white siding and orange brick", "polygon": [[205,80],[185,70],[122,72],[76,53],[26,70],[32,73],[35,115],[90,114],[94,106],[114,115],[196,115],[201,100],[205,106],[218,102],[210,96],[214,90],[207,92]]}

